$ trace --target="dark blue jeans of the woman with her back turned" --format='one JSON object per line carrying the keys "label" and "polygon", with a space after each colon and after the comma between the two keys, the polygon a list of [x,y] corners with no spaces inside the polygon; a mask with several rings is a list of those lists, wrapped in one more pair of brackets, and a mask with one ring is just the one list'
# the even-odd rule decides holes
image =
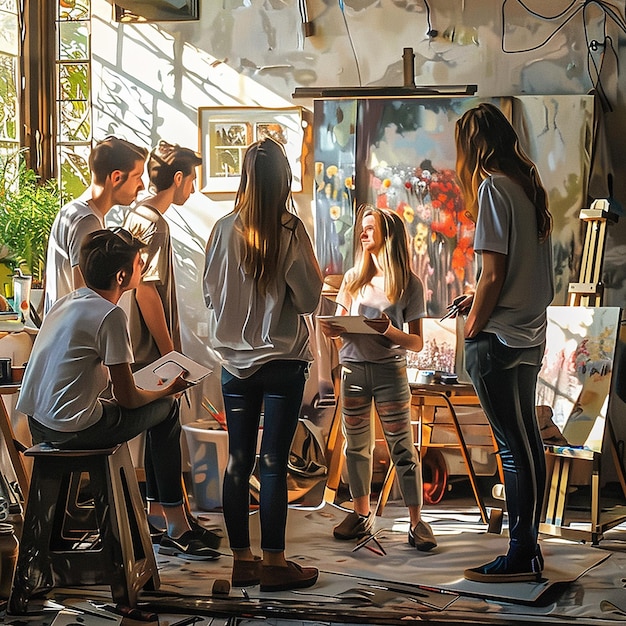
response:
{"label": "dark blue jeans of the woman with her back turned", "polygon": [[223,507],[233,550],[250,547],[249,480],[256,460],[261,411],[261,549],[268,552],[285,549],[287,461],[298,425],[307,372],[308,364],[304,361],[282,360],[266,363],[248,378],[237,378],[222,370],[229,454]]}

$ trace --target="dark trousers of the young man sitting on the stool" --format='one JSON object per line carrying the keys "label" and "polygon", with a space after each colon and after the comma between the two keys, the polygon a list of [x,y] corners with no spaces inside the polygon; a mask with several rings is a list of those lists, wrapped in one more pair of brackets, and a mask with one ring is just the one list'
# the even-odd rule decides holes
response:
{"label": "dark trousers of the young man sitting on the stool", "polygon": [[102,417],[75,433],[51,430],[29,418],[33,443],[47,441],[67,450],[111,448],[146,431],[146,497],[165,506],[182,504],[178,401],[160,398],[137,409],[100,402]]}

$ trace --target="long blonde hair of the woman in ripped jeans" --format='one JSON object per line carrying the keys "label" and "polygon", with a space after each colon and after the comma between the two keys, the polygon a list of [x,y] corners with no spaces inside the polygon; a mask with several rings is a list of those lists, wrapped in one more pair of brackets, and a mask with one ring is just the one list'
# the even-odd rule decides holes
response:
{"label": "long blonde hair of the woman in ripped jeans", "polygon": [[[385,295],[391,304],[395,304],[407,288],[411,274],[406,228],[397,213],[367,204],[361,205],[357,214],[356,241],[363,231],[363,218],[368,215],[374,216],[382,233],[383,245],[377,258],[385,277]],[[357,271],[354,279],[346,285],[351,295],[356,294],[376,275],[372,255],[369,252],[364,253],[362,246],[357,247],[355,268]]]}

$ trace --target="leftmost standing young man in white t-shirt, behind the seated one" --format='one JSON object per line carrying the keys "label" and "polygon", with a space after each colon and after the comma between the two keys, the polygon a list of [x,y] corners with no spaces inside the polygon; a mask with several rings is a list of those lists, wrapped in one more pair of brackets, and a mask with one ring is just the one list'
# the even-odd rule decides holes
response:
{"label": "leftmost standing young man in white t-shirt, behind the seated one", "polygon": [[78,267],[80,245],[88,233],[104,228],[104,216],[119,204],[130,205],[144,189],[141,177],[146,148],[107,137],[89,155],[91,184],[56,216],[46,258],[44,313],[59,299],[85,283]]}

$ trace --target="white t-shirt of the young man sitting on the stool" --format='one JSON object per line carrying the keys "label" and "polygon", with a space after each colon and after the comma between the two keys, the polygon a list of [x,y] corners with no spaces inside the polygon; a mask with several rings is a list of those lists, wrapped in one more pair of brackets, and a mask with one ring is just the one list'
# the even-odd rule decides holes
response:
{"label": "white t-shirt of the young man sitting on the stool", "polygon": [[126,314],[88,287],[48,312],[28,360],[17,408],[60,432],[76,432],[102,416],[107,365],[132,363]]}

